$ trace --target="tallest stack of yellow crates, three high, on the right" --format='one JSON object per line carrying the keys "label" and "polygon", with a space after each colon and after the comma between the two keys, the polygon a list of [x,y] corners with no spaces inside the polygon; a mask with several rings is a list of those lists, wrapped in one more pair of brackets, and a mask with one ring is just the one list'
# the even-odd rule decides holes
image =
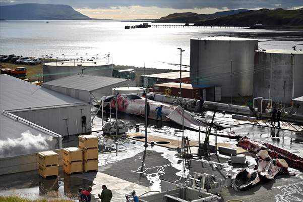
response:
{"label": "tallest stack of yellow crates, three high, on the right", "polygon": [[83,171],[98,170],[98,137],[79,136],[79,148],[83,151]]}

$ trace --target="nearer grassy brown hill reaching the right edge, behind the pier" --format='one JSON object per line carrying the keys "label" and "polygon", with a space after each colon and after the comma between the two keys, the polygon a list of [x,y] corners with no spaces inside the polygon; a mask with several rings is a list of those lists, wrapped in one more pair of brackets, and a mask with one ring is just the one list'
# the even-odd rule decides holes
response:
{"label": "nearer grassy brown hill reaching the right edge, behind the pier", "polygon": [[260,9],[197,22],[196,26],[303,26],[303,9]]}

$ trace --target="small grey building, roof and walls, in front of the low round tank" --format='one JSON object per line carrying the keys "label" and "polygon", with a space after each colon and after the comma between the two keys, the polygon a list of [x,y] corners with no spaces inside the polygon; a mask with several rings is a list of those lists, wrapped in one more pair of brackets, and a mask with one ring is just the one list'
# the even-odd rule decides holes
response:
{"label": "small grey building, roof and walls, in front of the low round tank", "polygon": [[112,88],[128,84],[128,79],[76,74],[43,83],[42,86],[82,101],[91,102],[92,99],[97,100],[111,95]]}

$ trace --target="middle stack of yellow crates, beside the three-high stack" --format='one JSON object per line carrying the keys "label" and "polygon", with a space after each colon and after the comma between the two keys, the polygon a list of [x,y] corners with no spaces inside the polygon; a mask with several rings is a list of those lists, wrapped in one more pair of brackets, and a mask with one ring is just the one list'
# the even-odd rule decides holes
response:
{"label": "middle stack of yellow crates, beside the three-high stack", "polygon": [[63,149],[63,168],[67,174],[82,173],[82,150],[78,147]]}

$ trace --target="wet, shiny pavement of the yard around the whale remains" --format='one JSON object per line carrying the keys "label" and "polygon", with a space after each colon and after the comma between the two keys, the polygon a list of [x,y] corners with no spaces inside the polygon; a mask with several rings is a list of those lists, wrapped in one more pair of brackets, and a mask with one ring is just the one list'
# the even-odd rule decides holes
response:
{"label": "wet, shiny pavement of the yard around the whale remains", "polygon": [[[206,112],[206,120],[211,120],[212,112]],[[120,115],[119,119],[129,124],[131,132],[135,132],[135,124],[140,124],[140,132],[144,131],[144,118],[134,115]],[[231,115],[218,113],[216,120],[231,123]],[[153,135],[165,136],[174,139],[180,139],[181,127],[173,123],[163,123],[162,128],[157,128],[154,121],[149,122],[148,133]],[[217,176],[219,180],[225,180],[227,174],[235,174],[246,165],[229,165],[229,157],[224,155],[211,155],[210,159],[190,160],[188,162],[179,162],[177,151],[161,146],[145,147],[143,142],[130,139],[120,139],[118,150],[113,139],[102,137],[101,118],[96,116],[93,125],[93,134],[99,136],[99,171],[83,174],[67,175],[61,169],[58,178],[41,178],[37,171],[17,173],[1,176],[0,195],[19,194],[29,198],[71,198],[76,199],[79,187],[93,187],[93,201],[99,201],[97,194],[101,191],[101,185],[106,184],[114,193],[113,201],[126,201],[125,194],[133,190],[144,193],[148,190],[161,190],[160,181],[166,179],[173,182],[183,182],[188,175],[193,172],[210,173]],[[252,139],[262,140],[283,147],[299,156],[303,156],[303,137],[295,132],[271,129],[267,127],[245,124],[237,127],[226,128],[223,131],[233,131],[236,134],[248,136]],[[190,139],[198,140],[199,132],[186,129],[185,136]],[[204,133],[201,133],[201,139],[204,140]],[[210,136],[214,141],[215,137]],[[218,137],[218,141],[236,140]],[[78,146],[78,137],[70,136],[63,142],[66,146]],[[194,149],[193,149],[194,150]],[[208,161],[211,160],[216,168],[211,166]],[[248,154],[247,160],[249,167],[254,168],[256,162],[253,155]],[[186,164],[187,163],[187,164]],[[222,187],[219,192],[223,198],[241,199],[249,201],[303,201],[303,173],[295,169],[289,169],[295,172],[296,176],[280,175],[274,180],[261,183],[256,187],[243,192],[236,192],[231,188]]]}

